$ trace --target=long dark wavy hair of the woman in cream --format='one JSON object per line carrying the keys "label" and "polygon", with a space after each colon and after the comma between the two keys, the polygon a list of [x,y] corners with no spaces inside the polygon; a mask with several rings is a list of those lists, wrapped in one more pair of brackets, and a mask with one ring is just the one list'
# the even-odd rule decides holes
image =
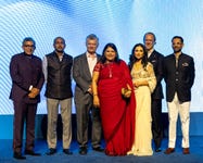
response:
{"label": "long dark wavy hair of the woman in cream", "polygon": [[142,43],[137,43],[137,45],[134,46],[134,48],[132,48],[132,50],[131,50],[131,54],[129,55],[129,64],[128,64],[128,65],[129,65],[129,68],[130,68],[130,70],[132,68],[134,63],[135,63],[136,61],[138,61],[138,59],[135,57],[135,50],[136,50],[137,47],[141,47],[141,48],[143,49],[143,58],[141,59],[141,63],[142,63],[143,67],[145,67],[147,64],[148,64],[148,52],[147,52],[147,50],[145,50],[144,45],[142,45]]}

